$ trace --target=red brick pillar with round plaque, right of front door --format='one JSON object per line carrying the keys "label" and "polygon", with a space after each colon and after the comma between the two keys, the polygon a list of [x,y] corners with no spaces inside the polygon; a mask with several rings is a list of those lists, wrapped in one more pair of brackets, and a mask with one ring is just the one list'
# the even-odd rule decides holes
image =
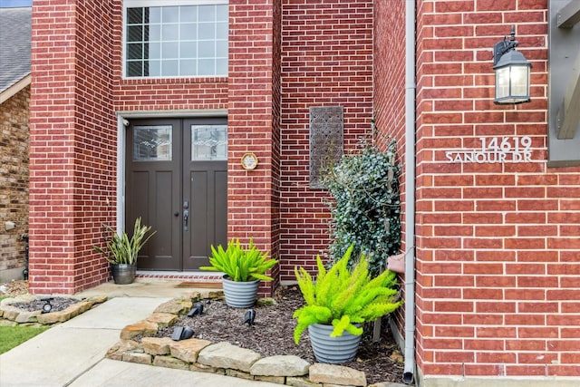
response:
{"label": "red brick pillar with round plaque, right of front door", "polygon": [[[280,42],[279,2],[230,1],[229,18],[228,237],[253,238],[277,259],[280,63],[275,54]],[[256,169],[242,168],[240,160],[247,152],[256,154]],[[271,293],[275,283],[262,284],[266,287],[261,292],[267,288]]]}

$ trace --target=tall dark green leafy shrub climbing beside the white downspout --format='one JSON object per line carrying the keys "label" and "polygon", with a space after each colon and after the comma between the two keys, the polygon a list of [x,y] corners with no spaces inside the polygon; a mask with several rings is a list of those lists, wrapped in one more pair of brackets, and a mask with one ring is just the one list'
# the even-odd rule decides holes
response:
{"label": "tall dark green leafy shrub climbing beside the white downspout", "polygon": [[[378,276],[387,256],[401,247],[399,167],[395,165],[396,142],[383,152],[364,146],[359,153],[344,156],[324,174],[323,186],[333,196],[331,210],[333,262],[354,247],[353,258],[364,254],[372,276]],[[349,266],[353,265],[353,261]]]}

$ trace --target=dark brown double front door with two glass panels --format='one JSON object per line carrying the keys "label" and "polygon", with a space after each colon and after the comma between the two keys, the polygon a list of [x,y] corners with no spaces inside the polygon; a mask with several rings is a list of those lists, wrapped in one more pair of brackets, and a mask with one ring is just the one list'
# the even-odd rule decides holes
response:
{"label": "dark brown double front door with two glass panels", "polygon": [[157,231],[138,267],[195,270],[227,243],[226,119],[132,120],[127,132],[125,224]]}

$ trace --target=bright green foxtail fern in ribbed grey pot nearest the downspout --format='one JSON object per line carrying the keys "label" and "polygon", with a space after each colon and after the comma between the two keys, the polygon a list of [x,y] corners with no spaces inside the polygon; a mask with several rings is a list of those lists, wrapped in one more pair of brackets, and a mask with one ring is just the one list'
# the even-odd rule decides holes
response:
{"label": "bright green foxtail fern in ribbed grey pot nearest the downspout", "polygon": [[305,305],[298,308],[294,339],[297,344],[308,328],[314,357],[319,363],[345,363],[354,359],[363,324],[397,309],[396,274],[384,271],[374,278],[364,255],[349,270],[353,252],[349,247],[343,257],[326,271],[320,256],[316,256],[318,275],[314,281],[308,272],[295,268],[298,287]]}

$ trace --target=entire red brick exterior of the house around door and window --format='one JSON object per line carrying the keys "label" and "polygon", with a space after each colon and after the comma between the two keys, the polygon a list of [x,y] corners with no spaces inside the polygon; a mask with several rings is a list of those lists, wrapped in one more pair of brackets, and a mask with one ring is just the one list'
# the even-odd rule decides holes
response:
{"label": "entire red brick exterior of the house around door and window", "polygon": [[[280,260],[262,289],[271,292],[295,265],[314,268],[329,243],[326,194],[308,185],[309,108],[343,106],[346,152],[372,135],[374,117],[398,141],[402,188],[413,167],[403,157],[413,88],[416,212],[408,225],[403,207],[403,231],[414,226],[416,379],[575,385],[580,168],[546,162],[547,1],[417,0],[413,85],[404,78],[409,4],[230,0],[227,77],[131,79],[121,1],[36,2],[31,291],[75,293],[109,278],[92,245],[122,211],[123,118],[227,111],[227,237],[254,237]],[[533,63],[532,102],[498,106],[491,47],[509,24]],[[531,156],[457,160],[494,138]],[[248,151],[259,159],[251,171],[239,163]]]}

